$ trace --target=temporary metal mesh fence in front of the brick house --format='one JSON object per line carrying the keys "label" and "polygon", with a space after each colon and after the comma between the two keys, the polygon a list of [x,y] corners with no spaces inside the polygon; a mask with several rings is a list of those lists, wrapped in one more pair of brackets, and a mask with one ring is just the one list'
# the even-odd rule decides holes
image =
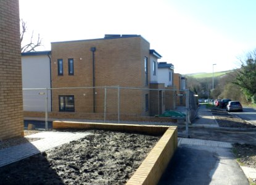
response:
{"label": "temporary metal mesh fence in front of the brick house", "polygon": [[186,113],[181,132],[188,134],[197,109],[193,96],[188,90],[120,86],[35,88],[23,89],[23,110],[25,119],[44,120],[47,130],[48,120],[177,125],[183,118],[162,115],[178,105]]}

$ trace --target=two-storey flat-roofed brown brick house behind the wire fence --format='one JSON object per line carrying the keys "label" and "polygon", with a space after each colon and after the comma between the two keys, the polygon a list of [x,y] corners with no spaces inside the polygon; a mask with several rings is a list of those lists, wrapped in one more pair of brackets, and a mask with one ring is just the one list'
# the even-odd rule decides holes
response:
{"label": "two-storey flat-roofed brown brick house behind the wire fence", "polygon": [[[104,89],[98,87],[102,86],[120,88],[120,97],[117,88],[107,89],[109,114],[117,113],[118,108],[121,115],[130,116],[149,116],[164,110],[157,97],[159,108],[151,111],[155,101],[147,89],[151,83],[157,84],[157,59],[161,56],[142,36],[105,35],[102,39],[52,43],[51,53],[52,112],[101,115],[105,109]],[[72,87],[95,88],[61,89]]]}

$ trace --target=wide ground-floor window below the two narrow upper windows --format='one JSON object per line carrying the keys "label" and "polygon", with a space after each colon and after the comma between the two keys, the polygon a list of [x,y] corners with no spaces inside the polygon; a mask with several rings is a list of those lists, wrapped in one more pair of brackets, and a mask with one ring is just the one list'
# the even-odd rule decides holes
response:
{"label": "wide ground-floor window below the two narrow upper windows", "polygon": [[59,96],[59,111],[60,112],[75,112],[75,99],[73,95]]}

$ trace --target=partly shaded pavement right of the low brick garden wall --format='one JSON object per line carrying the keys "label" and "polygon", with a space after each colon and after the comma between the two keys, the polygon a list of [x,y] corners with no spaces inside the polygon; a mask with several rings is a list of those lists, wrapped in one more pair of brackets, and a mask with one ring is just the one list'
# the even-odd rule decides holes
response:
{"label": "partly shaded pavement right of the low brick garden wall", "polygon": [[159,184],[249,184],[228,142],[180,138]]}

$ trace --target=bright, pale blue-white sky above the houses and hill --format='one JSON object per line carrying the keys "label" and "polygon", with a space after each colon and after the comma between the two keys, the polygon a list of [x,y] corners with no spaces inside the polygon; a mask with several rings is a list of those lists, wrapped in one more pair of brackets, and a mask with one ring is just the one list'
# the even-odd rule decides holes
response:
{"label": "bright, pale blue-white sky above the houses and hill", "polygon": [[[20,0],[28,35],[51,42],[136,34],[151,43],[175,73],[240,67],[237,57],[256,48],[254,0]],[[28,37],[29,39],[29,37]]]}

